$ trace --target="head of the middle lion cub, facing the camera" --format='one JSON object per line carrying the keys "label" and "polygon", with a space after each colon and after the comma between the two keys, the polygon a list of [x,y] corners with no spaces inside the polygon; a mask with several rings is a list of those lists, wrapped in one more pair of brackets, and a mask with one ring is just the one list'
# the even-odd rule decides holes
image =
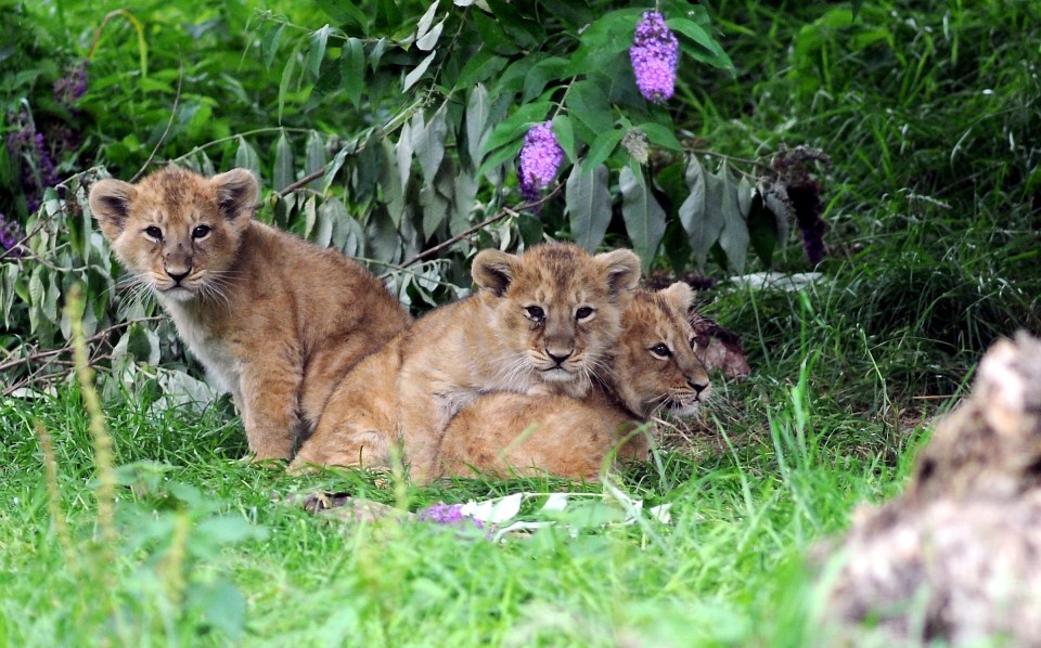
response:
{"label": "head of the middle lion cub, facing the camera", "polygon": [[591,256],[554,243],[520,256],[481,250],[472,272],[504,350],[502,372],[552,393],[581,397],[621,333],[640,259],[628,249]]}

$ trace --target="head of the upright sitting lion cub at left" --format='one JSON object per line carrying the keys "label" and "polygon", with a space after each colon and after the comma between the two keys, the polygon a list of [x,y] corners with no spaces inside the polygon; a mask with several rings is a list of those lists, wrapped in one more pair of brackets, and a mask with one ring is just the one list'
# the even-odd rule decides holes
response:
{"label": "head of the upright sitting lion cub at left", "polygon": [[245,169],[203,178],[167,167],[138,184],[102,180],[90,209],[138,281],[160,299],[188,302],[223,297],[257,193]]}

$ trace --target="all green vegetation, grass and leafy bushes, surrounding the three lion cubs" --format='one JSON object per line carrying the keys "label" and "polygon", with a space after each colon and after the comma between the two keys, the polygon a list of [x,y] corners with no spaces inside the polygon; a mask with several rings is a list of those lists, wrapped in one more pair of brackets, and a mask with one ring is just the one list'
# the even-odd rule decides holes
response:
{"label": "all green vegetation, grass and leafy bushes, surrounding the three lion cubs", "polygon": [[[86,4],[0,0],[0,119],[17,140],[0,146],[0,212],[17,223],[11,236],[31,233],[0,252],[5,644],[804,645],[820,639],[808,548],[856,503],[899,489],[928,420],[995,336],[1041,331],[1041,52],[1024,44],[1041,38],[1034,3],[723,0],[698,8],[694,27],[672,25],[668,103],[619,82],[584,112],[569,102],[596,75],[621,78],[648,7],[547,0],[537,7],[552,20],[517,10],[497,22],[465,2],[433,14],[428,2]],[[685,4],[660,9],[677,17]],[[424,16],[426,49],[412,40]],[[599,27],[579,33],[589,22]],[[485,42],[502,44],[485,57]],[[548,119],[574,137],[562,138],[565,167],[540,209],[518,208],[514,156]],[[646,165],[622,144],[633,131]],[[812,158],[801,179],[824,190],[815,267],[794,241],[771,244],[797,237],[797,215],[766,198],[775,154],[800,145]],[[718,378],[701,423],[671,429],[655,462],[608,487],[416,488],[242,464],[226,400],[168,398],[205,393],[197,367],[154,304],[116,288],[78,207],[98,165],[130,178],[153,153],[257,170],[271,191],[261,218],[372,259],[416,311],[461,294],[479,247],[545,235],[633,245],[654,276],[696,270],[704,309],[742,335],[754,374]],[[606,222],[578,219],[567,195],[590,169],[589,192],[613,205]],[[692,238],[681,206],[698,178],[744,192],[734,202],[759,196],[761,211],[742,198],[737,213],[751,256]],[[820,277],[794,291],[729,281],[768,268]],[[72,355],[53,352],[80,310],[101,410],[85,409],[89,376],[67,377]],[[493,543],[468,527],[316,517],[293,497],[316,489],[411,511],[522,491],[596,505]],[[631,500],[670,504],[671,522],[618,523]],[[540,503],[525,516],[549,516]]]}

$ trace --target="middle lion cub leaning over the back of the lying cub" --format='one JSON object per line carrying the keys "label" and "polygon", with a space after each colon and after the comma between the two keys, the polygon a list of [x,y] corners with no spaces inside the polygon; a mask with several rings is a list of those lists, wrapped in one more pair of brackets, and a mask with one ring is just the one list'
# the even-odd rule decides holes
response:
{"label": "middle lion cub leaning over the back of the lying cub", "polygon": [[483,250],[475,295],[417,321],[337,387],[292,468],[385,465],[403,443],[424,479],[452,416],[481,393],[583,397],[620,334],[640,260],[571,244]]}

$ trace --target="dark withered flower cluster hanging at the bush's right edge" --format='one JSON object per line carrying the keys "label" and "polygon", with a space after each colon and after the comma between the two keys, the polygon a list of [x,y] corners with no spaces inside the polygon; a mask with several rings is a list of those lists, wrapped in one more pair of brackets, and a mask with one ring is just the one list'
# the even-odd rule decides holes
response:
{"label": "dark withered flower cluster hanging at the bush's right edge", "polygon": [[821,219],[824,187],[812,172],[817,164],[826,167],[831,159],[822,151],[809,146],[782,147],[770,163],[771,171],[785,185],[795,222],[802,232],[806,258],[814,265],[824,259],[824,231],[827,229]]}

